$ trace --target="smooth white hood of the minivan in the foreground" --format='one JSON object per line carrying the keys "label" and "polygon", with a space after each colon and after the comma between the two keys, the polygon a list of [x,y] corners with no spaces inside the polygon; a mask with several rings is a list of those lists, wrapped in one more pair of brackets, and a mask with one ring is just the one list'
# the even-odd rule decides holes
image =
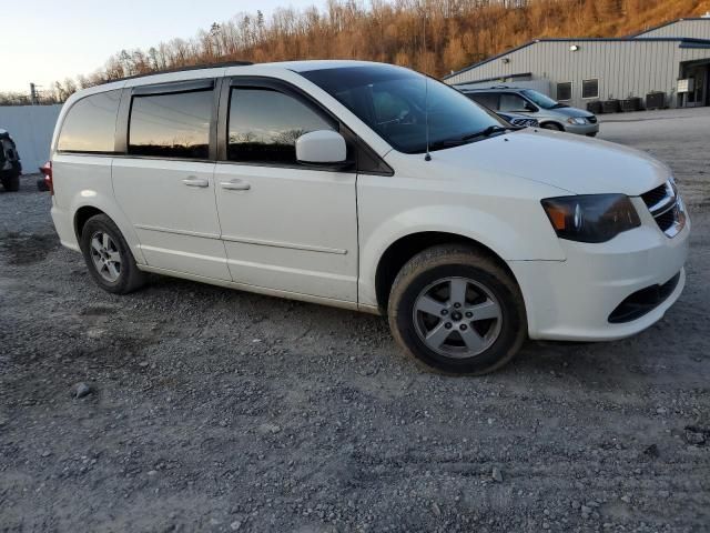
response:
{"label": "smooth white hood of the minivan in the foreground", "polygon": [[637,197],[665,183],[671,175],[666,164],[638,150],[530,128],[439,150],[432,155],[445,167],[505,172],[575,194]]}

